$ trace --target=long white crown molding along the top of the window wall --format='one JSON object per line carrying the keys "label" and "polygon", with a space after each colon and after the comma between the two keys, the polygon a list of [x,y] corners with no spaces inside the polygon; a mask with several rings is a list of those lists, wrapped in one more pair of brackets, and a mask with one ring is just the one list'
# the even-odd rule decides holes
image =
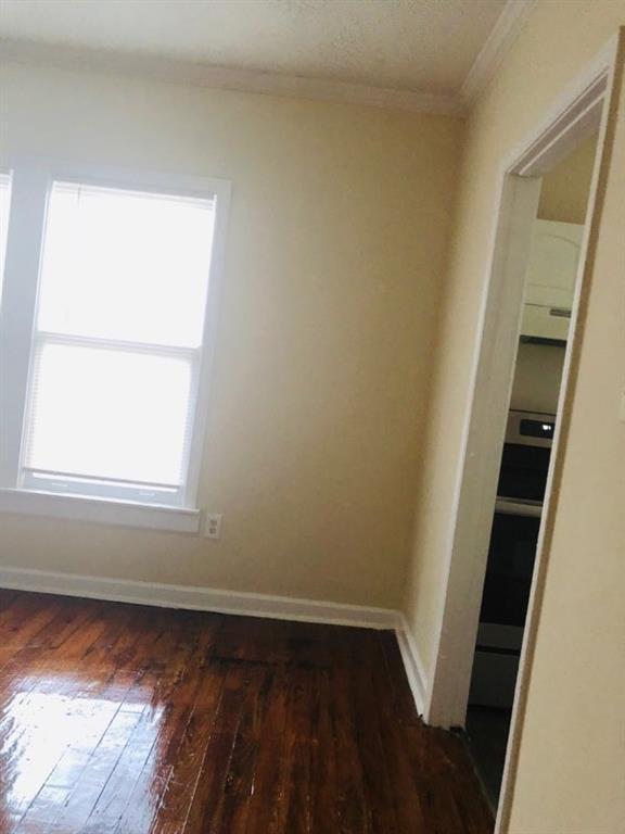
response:
{"label": "long white crown molding along the top of the window wall", "polygon": [[412,113],[458,115],[460,111],[460,101],[452,94],[234,70],[151,55],[66,48],[33,41],[0,40],[0,61],[109,75],[131,75],[220,90],[366,104]]}

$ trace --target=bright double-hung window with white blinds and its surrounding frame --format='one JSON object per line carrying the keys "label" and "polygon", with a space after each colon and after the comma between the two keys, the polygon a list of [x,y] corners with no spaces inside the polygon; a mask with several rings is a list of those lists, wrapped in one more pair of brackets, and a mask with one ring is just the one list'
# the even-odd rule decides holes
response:
{"label": "bright double-hung window with white blinds and its surrounding frame", "polygon": [[[8,276],[2,313],[3,330],[15,330],[12,316],[25,324],[4,346],[27,353],[17,363],[22,374],[4,366],[3,492],[13,493],[13,503],[15,492],[36,496],[38,506],[42,495],[63,496],[62,515],[71,504],[72,511],[84,506],[67,496],[115,502],[116,511],[126,502],[135,514],[152,505],[196,515],[214,320],[206,324],[206,314],[225,184],[190,190],[40,179],[34,187],[26,177],[22,195],[26,210],[43,203],[40,225],[17,222],[15,231],[40,241],[37,271],[25,280],[34,291],[17,286],[24,276]],[[26,273],[28,266],[25,258]]]}

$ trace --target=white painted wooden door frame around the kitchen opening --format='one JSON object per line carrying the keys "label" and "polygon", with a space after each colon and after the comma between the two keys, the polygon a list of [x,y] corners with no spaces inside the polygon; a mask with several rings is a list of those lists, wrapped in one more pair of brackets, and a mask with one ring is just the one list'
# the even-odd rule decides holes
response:
{"label": "white painted wooden door frame around the kitchen opening", "polygon": [[[494,215],[490,260],[482,299],[482,313],[472,368],[472,394],[463,429],[463,452],[455,491],[449,533],[444,605],[439,614],[435,666],[425,693],[429,723],[463,725],[488,539],[495,508],[497,479],[516,359],[523,308],[524,278],[532,226],[538,205],[540,178],[586,136],[599,129],[595,170],[587,210],[590,218],[603,152],[607,108],[612,87],[617,38],[611,40],[585,72],[559,97],[499,167],[499,195]],[[552,523],[551,496],[563,459],[563,426],[572,405],[567,384],[572,356],[579,346],[577,311],[584,291],[589,224],[586,224],[578,280],[571,317],[550,472],[545,498],[532,595],[524,633],[512,728],[508,746],[497,832],[508,825],[511,785],[515,775],[520,730],[547,572],[545,531]]]}

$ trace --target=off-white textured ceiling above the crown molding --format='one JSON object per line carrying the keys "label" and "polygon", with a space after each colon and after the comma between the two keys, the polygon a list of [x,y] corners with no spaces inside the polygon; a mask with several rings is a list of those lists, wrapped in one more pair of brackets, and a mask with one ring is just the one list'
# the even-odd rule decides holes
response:
{"label": "off-white textured ceiling above the crown molding", "polygon": [[0,0],[0,36],[455,93],[506,0]]}

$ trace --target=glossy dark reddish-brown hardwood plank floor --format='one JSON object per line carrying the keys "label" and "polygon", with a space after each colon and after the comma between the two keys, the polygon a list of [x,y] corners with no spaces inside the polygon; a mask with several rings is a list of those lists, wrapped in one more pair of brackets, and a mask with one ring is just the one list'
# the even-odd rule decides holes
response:
{"label": "glossy dark reddish-brown hardwood plank floor", "polygon": [[487,834],[391,632],[0,591],[2,834]]}

